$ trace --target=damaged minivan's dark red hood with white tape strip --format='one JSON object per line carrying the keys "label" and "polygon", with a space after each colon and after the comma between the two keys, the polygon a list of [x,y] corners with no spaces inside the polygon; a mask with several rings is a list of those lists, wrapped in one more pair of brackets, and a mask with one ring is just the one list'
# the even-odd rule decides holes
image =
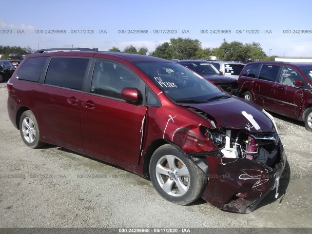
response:
{"label": "damaged minivan's dark red hood with white tape strip", "polygon": [[188,103],[187,106],[214,117],[220,127],[244,129],[250,133],[275,132],[271,119],[254,103],[241,98],[220,98],[207,103]]}

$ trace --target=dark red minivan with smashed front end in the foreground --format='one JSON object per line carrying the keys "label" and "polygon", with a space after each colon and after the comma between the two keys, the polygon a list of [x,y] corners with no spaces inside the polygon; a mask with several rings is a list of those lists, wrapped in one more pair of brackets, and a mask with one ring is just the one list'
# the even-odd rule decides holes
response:
{"label": "dark red minivan with smashed front end in the foreground", "polygon": [[201,196],[245,213],[278,195],[286,154],[273,117],[176,62],[39,50],[7,89],[9,117],[29,147],[59,145],[149,175],[180,205]]}

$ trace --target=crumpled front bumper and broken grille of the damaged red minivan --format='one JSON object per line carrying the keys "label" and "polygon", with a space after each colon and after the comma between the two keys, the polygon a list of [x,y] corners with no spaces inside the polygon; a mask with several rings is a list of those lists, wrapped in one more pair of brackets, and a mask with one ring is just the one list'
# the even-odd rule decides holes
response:
{"label": "crumpled front bumper and broken grille of the damaged red minivan", "polygon": [[[247,152],[242,157],[231,157],[231,154],[227,155],[230,157],[206,156],[209,165],[208,185],[202,197],[219,209],[238,213],[254,211],[275,188],[277,197],[286,154],[278,135],[275,134],[277,139],[268,138],[271,135],[263,134],[255,139],[258,148],[254,149],[253,154]],[[247,145],[245,149],[249,148]]]}

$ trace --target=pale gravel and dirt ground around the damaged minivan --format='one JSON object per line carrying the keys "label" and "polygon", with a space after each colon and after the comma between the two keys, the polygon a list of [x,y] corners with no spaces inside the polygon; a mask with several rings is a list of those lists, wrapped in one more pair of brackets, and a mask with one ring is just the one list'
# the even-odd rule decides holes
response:
{"label": "pale gravel and dirt ground around the damaged minivan", "polygon": [[203,199],[174,205],[149,180],[61,147],[28,148],[4,83],[0,100],[0,227],[312,227],[312,133],[302,122],[273,114],[289,163],[279,197],[236,214]]}

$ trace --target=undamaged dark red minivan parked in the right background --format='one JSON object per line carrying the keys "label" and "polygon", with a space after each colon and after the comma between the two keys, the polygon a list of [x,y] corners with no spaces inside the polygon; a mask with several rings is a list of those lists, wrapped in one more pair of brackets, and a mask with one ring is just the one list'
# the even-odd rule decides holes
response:
{"label": "undamaged dark red minivan parked in the right background", "polygon": [[250,62],[239,78],[240,97],[305,122],[312,132],[312,64]]}

